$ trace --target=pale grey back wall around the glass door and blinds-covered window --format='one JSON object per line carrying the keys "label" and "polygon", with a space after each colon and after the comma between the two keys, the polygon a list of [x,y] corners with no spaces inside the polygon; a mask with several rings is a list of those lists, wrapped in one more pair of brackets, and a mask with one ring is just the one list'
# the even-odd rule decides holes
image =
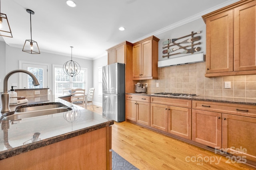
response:
{"label": "pale grey back wall around the glass door and blinds-covered window", "polygon": [[[2,49],[6,49],[6,53],[2,52]],[[50,64],[50,68],[48,70],[49,72],[49,82],[48,82],[48,88],[51,90],[53,89],[52,85],[52,64],[59,64],[63,65],[66,61],[69,61],[71,59],[71,56],[64,56],[64,55],[56,55],[51,53],[44,53],[41,52],[41,54],[29,54],[22,51],[20,48],[16,47],[10,47],[6,45],[5,43],[2,43],[0,41],[0,79],[2,82],[0,82],[0,92],[2,92],[2,84],[4,80],[4,76],[6,73],[19,69],[19,61],[31,61],[31,62],[38,62],[38,63],[48,63]],[[4,51],[4,50],[3,50]],[[6,62],[5,62],[6,59]],[[78,62],[81,67],[88,68],[88,88],[93,86],[93,61],[92,60],[85,60],[80,58],[75,58],[73,56],[73,60]],[[5,66],[6,64],[6,66]],[[13,74],[10,76],[8,80],[8,89],[11,88],[12,83],[17,83],[19,86],[19,74]],[[17,87],[19,88],[19,87]],[[87,89],[88,90],[88,89]]]}

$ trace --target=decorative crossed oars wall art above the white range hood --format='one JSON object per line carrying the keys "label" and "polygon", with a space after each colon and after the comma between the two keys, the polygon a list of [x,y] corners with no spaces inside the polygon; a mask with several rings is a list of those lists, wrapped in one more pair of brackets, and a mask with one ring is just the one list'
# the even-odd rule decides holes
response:
{"label": "decorative crossed oars wall art above the white range hood", "polygon": [[[194,43],[195,41],[199,41],[201,39],[200,36],[194,37],[194,35],[199,34],[199,33],[201,33],[201,31],[198,31],[196,33],[194,33],[192,31],[191,34],[189,34],[189,35],[185,35],[183,37],[179,37],[179,38],[175,38],[175,39],[168,39],[168,40],[164,41],[163,45],[166,45],[166,46],[163,46],[163,49],[164,49],[163,54],[167,54],[167,55],[163,55],[163,58],[168,57],[168,59],[169,59],[169,57],[172,56],[172,55],[178,55],[178,54],[183,54],[183,53],[193,54],[195,52],[200,51],[201,48],[200,47],[195,47],[195,45],[200,45],[201,43],[200,42]],[[183,39],[183,38],[186,38],[186,37],[189,37],[189,36],[191,36],[191,38],[185,39],[185,40],[180,41],[180,42],[177,41],[179,39]],[[185,46],[181,45],[181,44],[188,44],[188,43],[191,43],[191,44],[185,45]],[[191,48],[188,49],[188,47],[191,47]],[[182,51],[180,51],[180,49],[182,49]],[[172,53],[174,51],[176,51],[177,53]]]}

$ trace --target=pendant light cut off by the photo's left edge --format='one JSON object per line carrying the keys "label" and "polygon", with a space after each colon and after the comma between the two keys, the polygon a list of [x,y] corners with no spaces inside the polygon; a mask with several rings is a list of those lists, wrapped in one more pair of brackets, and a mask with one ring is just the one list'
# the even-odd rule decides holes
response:
{"label": "pendant light cut off by the photo's left edge", "polygon": [[7,16],[6,14],[1,13],[1,1],[0,1],[0,36],[12,38],[12,31],[11,31]]}

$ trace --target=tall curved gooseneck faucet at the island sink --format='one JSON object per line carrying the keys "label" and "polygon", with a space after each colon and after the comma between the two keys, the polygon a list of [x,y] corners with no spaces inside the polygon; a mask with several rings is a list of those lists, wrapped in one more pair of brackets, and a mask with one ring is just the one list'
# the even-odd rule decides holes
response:
{"label": "tall curved gooseneck faucet at the island sink", "polygon": [[1,100],[2,100],[2,110],[1,112],[8,112],[10,111],[10,107],[9,107],[9,102],[10,102],[10,94],[8,93],[8,79],[9,77],[16,73],[16,72],[24,72],[28,75],[30,75],[33,79],[33,85],[34,86],[38,86],[40,85],[38,80],[36,79],[36,77],[34,76],[34,74],[32,74],[31,72],[27,71],[27,70],[13,70],[11,72],[9,72],[8,74],[6,74],[6,76],[4,77],[4,92],[1,95]]}

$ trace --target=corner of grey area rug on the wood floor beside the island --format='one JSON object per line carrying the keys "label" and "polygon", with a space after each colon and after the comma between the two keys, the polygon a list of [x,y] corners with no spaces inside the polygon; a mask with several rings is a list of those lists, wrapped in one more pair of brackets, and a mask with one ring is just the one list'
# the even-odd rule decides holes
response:
{"label": "corner of grey area rug on the wood floor beside the island", "polygon": [[112,150],[112,170],[139,170]]}

